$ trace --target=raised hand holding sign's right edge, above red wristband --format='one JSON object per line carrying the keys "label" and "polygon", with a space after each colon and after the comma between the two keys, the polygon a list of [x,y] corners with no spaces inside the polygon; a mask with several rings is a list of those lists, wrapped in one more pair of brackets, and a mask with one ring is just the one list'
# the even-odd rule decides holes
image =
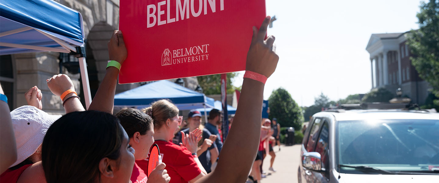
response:
{"label": "raised hand holding sign's right edge, above red wristband", "polygon": [[259,30],[253,26],[253,37],[250,49],[247,54],[247,62],[245,70],[253,71],[267,77],[273,74],[279,61],[279,56],[274,52],[276,46],[274,43],[274,36],[268,36],[264,40],[267,33],[267,26],[270,23],[270,16],[264,19]]}

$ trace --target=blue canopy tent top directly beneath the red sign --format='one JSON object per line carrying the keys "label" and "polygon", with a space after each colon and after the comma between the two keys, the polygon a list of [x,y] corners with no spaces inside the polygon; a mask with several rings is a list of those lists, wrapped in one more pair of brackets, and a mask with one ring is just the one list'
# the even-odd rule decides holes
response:
{"label": "blue canopy tent top directly beneath the red sign", "polygon": [[156,81],[116,94],[114,105],[117,108],[146,108],[160,99],[171,100],[180,110],[212,108],[214,100],[203,93],[187,89],[168,80]]}

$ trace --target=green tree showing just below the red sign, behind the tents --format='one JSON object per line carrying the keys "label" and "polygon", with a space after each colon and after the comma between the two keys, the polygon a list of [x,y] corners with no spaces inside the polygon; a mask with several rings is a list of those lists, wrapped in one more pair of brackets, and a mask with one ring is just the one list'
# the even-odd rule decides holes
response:
{"label": "green tree showing just below the red sign, behind the tents", "polygon": [[[240,90],[241,87],[232,86],[232,79],[237,75],[237,72],[227,73],[227,93],[233,93],[235,89]],[[198,76],[197,79],[204,94],[221,94],[221,74]]]}

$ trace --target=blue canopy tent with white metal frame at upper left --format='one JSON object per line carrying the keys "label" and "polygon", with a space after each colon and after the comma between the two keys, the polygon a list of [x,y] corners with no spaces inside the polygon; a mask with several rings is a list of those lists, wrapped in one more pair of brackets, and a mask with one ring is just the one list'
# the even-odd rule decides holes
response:
{"label": "blue canopy tent with white metal frame at upper left", "polygon": [[83,44],[83,19],[78,11],[53,0],[0,1],[0,55],[42,51],[75,54],[88,108],[91,96]]}

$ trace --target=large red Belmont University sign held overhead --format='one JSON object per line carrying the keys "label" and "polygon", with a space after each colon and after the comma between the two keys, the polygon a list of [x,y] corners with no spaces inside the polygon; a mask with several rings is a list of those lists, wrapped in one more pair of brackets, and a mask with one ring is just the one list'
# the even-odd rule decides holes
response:
{"label": "large red Belmont University sign held overhead", "polygon": [[245,70],[265,0],[121,0],[128,50],[119,83]]}

